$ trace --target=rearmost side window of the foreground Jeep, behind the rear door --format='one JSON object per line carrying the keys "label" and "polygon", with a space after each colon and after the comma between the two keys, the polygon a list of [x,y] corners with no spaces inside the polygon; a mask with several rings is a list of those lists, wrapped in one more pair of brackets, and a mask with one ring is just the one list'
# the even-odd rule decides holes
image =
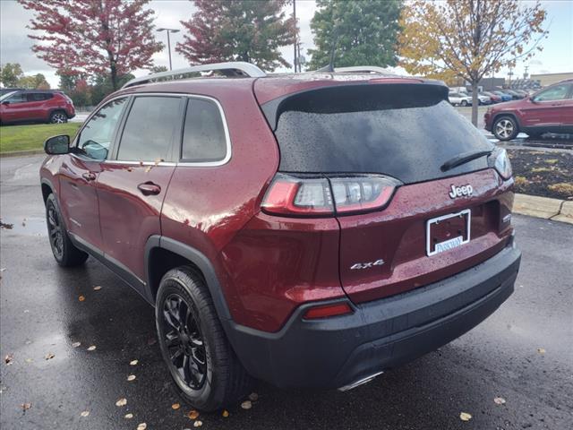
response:
{"label": "rearmost side window of the foreground Jeep, behind the rear door", "polygon": [[185,115],[181,158],[192,162],[225,159],[227,138],[217,104],[205,99],[189,99]]}

